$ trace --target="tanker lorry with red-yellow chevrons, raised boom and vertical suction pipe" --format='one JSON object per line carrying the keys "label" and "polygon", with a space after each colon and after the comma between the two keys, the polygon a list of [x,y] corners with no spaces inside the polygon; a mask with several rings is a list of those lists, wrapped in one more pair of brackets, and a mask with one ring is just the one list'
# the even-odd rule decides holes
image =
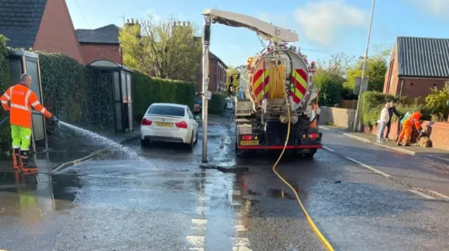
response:
{"label": "tanker lorry with red-yellow chevrons, raised boom and vertical suction pipe", "polygon": [[[203,11],[203,62],[208,62],[210,24],[243,27],[255,31],[264,49],[240,67],[234,106],[236,154],[253,150],[294,150],[313,157],[323,148],[317,127],[318,90],[314,88],[315,63],[307,61],[288,43],[298,35],[255,17],[224,10]],[[210,99],[208,64],[203,64],[203,100]],[[232,81],[230,81],[232,83]],[[206,102],[207,106],[207,102]],[[204,108],[207,110],[207,107]],[[206,119],[205,119],[206,117]],[[207,113],[203,110],[203,163],[207,162]]]}

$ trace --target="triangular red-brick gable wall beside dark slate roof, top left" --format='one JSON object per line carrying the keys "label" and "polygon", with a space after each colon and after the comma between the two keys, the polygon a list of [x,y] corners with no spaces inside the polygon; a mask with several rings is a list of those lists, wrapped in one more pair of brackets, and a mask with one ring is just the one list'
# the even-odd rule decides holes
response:
{"label": "triangular red-brick gable wall beside dark slate roof, top left", "polygon": [[65,1],[47,1],[33,48],[34,50],[59,52],[84,64]]}

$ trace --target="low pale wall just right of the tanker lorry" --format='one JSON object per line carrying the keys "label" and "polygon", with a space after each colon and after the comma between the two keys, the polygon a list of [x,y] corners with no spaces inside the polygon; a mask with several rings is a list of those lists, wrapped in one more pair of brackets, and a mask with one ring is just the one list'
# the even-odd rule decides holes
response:
{"label": "low pale wall just right of the tanker lorry", "polygon": [[332,123],[337,127],[351,127],[356,110],[321,106],[320,123]]}

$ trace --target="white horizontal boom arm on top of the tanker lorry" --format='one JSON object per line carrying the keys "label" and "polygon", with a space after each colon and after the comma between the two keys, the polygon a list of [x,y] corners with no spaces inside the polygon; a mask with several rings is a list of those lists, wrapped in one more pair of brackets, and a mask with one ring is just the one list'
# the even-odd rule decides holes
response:
{"label": "white horizontal boom arm on top of the tanker lorry", "polygon": [[225,24],[229,27],[245,27],[272,41],[296,42],[299,40],[297,34],[293,31],[248,15],[216,9],[203,10],[203,15],[210,17],[212,22]]}

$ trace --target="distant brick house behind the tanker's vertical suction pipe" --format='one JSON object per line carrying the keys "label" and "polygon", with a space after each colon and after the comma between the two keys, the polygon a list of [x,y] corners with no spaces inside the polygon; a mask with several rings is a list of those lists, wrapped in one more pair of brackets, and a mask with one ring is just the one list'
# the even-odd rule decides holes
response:
{"label": "distant brick house behind the tanker's vertical suction pipe", "polygon": [[[226,92],[226,70],[228,66],[217,57],[212,52],[209,52],[209,86],[208,89],[210,92]],[[199,68],[196,87],[198,92],[201,92],[201,88],[203,86],[202,79],[202,68]]]}

